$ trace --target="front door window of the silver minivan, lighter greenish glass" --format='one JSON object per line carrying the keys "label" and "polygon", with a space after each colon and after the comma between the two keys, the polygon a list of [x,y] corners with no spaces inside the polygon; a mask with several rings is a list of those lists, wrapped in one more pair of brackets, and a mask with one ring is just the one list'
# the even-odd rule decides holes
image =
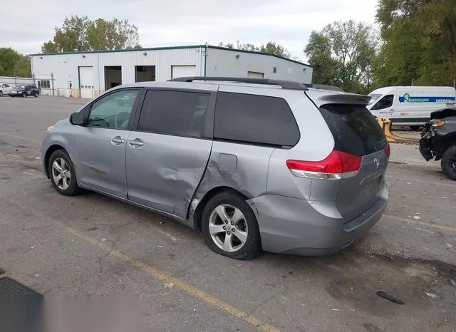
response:
{"label": "front door window of the silver minivan, lighter greenish glass", "polygon": [[90,108],[88,126],[127,129],[138,90],[120,90],[95,101]]}

